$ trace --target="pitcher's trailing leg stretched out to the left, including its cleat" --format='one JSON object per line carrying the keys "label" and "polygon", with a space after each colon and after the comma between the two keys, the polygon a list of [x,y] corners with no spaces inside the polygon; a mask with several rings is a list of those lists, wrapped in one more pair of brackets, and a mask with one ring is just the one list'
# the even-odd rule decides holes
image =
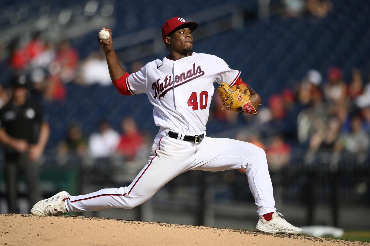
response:
{"label": "pitcher's trailing leg stretched out to the left, including its cleat", "polygon": [[186,149],[178,155],[171,155],[165,151],[166,146],[170,152],[176,147],[167,139],[163,139],[162,143],[159,141],[157,146],[158,149],[152,152],[148,163],[129,186],[102,189],[78,196],[70,196],[67,192],[62,191],[51,198],[36,203],[31,209],[31,213],[34,215],[55,215],[66,212],[98,211],[107,208],[129,209],[144,203],[168,181],[189,170],[191,166],[189,163],[194,162],[194,156],[190,155]]}

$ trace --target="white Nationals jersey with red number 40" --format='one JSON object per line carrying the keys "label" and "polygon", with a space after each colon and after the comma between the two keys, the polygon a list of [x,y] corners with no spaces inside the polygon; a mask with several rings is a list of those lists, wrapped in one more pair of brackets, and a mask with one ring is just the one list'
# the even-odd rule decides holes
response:
{"label": "white Nationals jersey with red number 40", "polygon": [[193,52],[179,60],[165,57],[147,63],[126,80],[132,94],[146,93],[154,105],[155,125],[188,135],[202,134],[211,104],[213,83],[236,82],[240,71],[214,55]]}

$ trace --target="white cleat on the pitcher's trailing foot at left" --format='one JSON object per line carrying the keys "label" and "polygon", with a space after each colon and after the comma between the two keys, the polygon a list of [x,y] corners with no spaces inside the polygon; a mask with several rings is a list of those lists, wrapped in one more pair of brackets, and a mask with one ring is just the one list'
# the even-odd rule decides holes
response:
{"label": "white cleat on the pitcher's trailing foot at left", "polygon": [[53,195],[52,197],[37,202],[31,209],[33,215],[57,215],[66,214],[67,209],[65,208],[64,198],[70,197],[66,191]]}

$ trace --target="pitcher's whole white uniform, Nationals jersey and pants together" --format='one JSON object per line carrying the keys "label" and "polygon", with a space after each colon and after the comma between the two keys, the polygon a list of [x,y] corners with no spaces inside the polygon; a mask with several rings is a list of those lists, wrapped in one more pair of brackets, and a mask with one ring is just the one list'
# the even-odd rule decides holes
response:
{"label": "pitcher's whole white uniform, Nationals jersey and pants together", "polygon": [[129,75],[127,88],[131,94],[147,93],[154,105],[155,124],[163,128],[154,138],[148,162],[129,186],[65,198],[67,211],[134,208],[185,171],[244,168],[258,214],[275,212],[263,149],[251,143],[208,136],[198,143],[187,142],[179,137],[169,138],[166,132],[168,129],[188,135],[205,132],[213,83],[225,82],[233,86],[239,75],[239,71],[230,69],[217,56],[194,52],[176,61],[164,58],[149,62]]}

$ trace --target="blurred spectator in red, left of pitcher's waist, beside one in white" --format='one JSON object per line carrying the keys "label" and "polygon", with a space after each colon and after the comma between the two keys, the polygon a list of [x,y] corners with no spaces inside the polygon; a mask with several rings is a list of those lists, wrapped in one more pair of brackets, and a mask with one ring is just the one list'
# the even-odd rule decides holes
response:
{"label": "blurred spectator in red, left of pitcher's waist, beside one in white", "polygon": [[117,147],[117,153],[126,157],[127,160],[135,160],[137,152],[145,144],[144,138],[138,131],[132,118],[124,118],[121,123],[122,135]]}

